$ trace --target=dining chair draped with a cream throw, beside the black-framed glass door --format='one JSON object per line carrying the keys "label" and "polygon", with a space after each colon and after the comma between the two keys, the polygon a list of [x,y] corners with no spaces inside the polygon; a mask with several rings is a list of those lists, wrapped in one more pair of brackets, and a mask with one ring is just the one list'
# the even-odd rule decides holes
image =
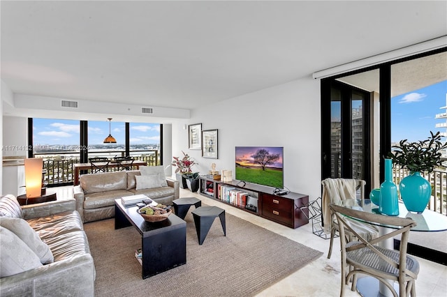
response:
{"label": "dining chair draped with a cream throw, beside the black-framed glass door", "polygon": [[[353,178],[326,178],[325,180],[321,181],[321,184],[323,185],[323,195],[321,201],[323,224],[326,226],[326,229],[330,230],[330,243],[328,251],[328,259],[330,259],[332,254],[332,245],[334,243],[334,238],[337,237],[339,226],[334,215],[330,213],[329,204],[336,203],[337,201],[344,199],[352,199],[355,201],[357,198],[357,192],[359,191],[360,206],[363,206],[365,204],[366,182],[362,179]],[[346,188],[343,188],[344,185],[346,185]],[[349,185],[353,185],[352,189],[350,189]],[[357,233],[365,239],[376,238],[379,235],[379,229],[370,224],[356,222],[354,220],[352,220],[350,224],[351,227],[356,229]],[[344,234],[348,241],[353,241],[356,239],[356,237],[353,236],[349,230],[345,230]]]}

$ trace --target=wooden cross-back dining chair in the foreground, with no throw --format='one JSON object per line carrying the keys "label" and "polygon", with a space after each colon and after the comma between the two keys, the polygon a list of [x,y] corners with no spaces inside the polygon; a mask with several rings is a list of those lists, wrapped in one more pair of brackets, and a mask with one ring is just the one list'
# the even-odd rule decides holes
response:
{"label": "wooden cross-back dining chair in the foreground, with no throw", "polygon": [[[340,296],[344,296],[346,281],[353,277],[351,290],[354,291],[357,283],[357,275],[365,274],[375,277],[390,289],[393,296],[406,297],[416,296],[416,278],[419,273],[418,261],[406,254],[406,248],[411,228],[416,226],[416,222],[411,218],[397,218],[387,215],[378,215],[357,211],[351,208],[330,204],[330,209],[335,214],[340,226],[340,245],[342,250],[342,288]],[[386,225],[395,229],[387,234],[371,240],[363,239],[354,229],[349,226],[346,219],[353,218],[380,226]],[[359,241],[347,242],[344,230],[351,231]],[[389,250],[381,248],[379,243],[386,240],[393,240],[394,236],[401,235],[400,249]],[[346,275],[347,266],[353,269]],[[393,284],[386,280],[399,283],[399,293],[394,289]]]}

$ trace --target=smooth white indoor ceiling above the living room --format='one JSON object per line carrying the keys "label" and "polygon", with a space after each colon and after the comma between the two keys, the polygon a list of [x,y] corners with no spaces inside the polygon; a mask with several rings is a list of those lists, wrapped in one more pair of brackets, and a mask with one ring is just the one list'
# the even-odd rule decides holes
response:
{"label": "smooth white indoor ceiling above the living room", "polygon": [[1,1],[14,93],[194,109],[446,36],[446,1]]}

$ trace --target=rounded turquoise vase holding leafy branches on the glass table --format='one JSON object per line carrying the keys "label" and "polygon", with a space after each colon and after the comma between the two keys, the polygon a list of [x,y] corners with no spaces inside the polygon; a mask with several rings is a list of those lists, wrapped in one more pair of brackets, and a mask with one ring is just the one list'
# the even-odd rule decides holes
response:
{"label": "rounded turquoise vase holding leafy branches on the glass table", "polygon": [[419,172],[411,172],[400,181],[399,192],[408,211],[423,213],[432,196],[432,185]]}

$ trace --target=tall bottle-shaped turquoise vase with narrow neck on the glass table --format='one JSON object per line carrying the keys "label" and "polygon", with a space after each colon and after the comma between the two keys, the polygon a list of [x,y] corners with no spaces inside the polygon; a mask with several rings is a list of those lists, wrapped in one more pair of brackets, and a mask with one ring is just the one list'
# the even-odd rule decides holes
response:
{"label": "tall bottle-shaped turquoise vase with narrow neck on the glass table", "polygon": [[399,215],[397,186],[393,183],[393,160],[385,159],[385,181],[380,185],[379,212],[384,215]]}

